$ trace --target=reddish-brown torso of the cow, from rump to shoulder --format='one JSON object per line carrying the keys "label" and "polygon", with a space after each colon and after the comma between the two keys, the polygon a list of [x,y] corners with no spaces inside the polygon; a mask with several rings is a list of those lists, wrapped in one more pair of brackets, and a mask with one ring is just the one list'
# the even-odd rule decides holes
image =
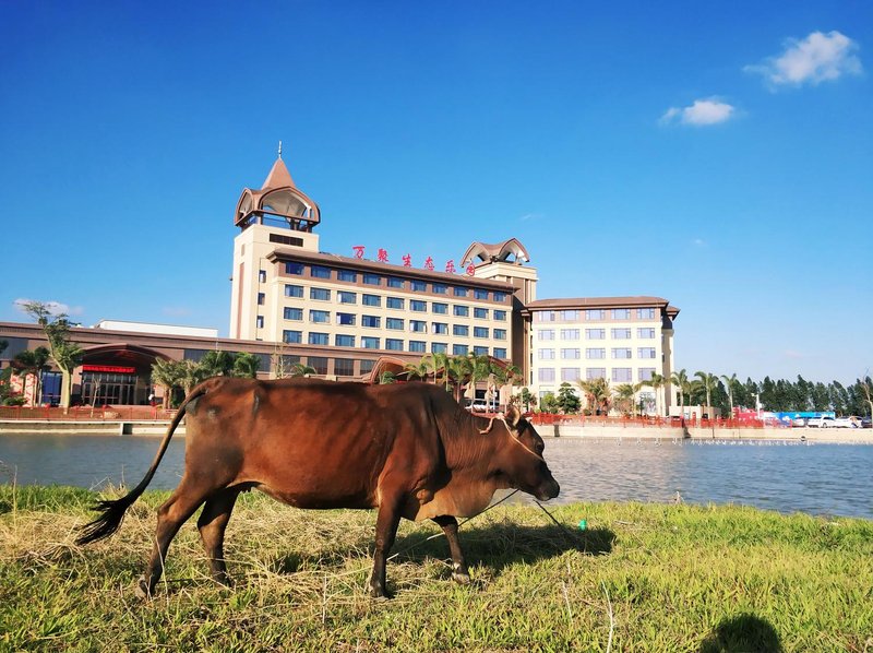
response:
{"label": "reddish-brown torso of the cow, from rump to shoulder", "polygon": [[415,485],[440,458],[429,391],[385,388],[227,379],[188,412],[187,471],[300,508],[378,506],[385,475]]}

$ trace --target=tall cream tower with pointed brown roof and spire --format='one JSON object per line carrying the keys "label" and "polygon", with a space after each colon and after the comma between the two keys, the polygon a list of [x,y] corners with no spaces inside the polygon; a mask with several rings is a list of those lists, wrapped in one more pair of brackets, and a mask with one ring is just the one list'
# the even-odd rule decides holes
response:
{"label": "tall cream tower with pointed brown roof and spire", "polygon": [[[275,319],[279,283],[267,256],[278,249],[319,251],[314,227],[321,222],[319,205],[297,188],[278,156],[260,189],[244,188],[234,212],[239,234],[234,239],[230,297],[230,337],[268,340]],[[275,287],[274,287],[275,286]]]}

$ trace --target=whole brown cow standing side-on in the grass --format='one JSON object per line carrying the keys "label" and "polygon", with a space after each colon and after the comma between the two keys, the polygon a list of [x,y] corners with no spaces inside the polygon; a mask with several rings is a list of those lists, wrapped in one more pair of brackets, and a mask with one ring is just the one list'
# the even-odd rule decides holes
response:
{"label": "whole brown cow standing side-on in the grass", "polygon": [[499,488],[558,496],[542,440],[512,408],[489,423],[426,383],[368,385],[315,379],[215,378],[198,385],[167,429],[145,477],[79,544],[115,533],[142,495],[186,417],[179,487],[157,511],[155,546],[139,590],[151,596],[179,527],[204,506],[198,527],[213,578],[229,584],[224,534],[239,492],[256,488],[298,508],[378,508],[370,593],[385,596],[385,560],[402,517],[442,526],[453,578],[469,582],[456,517],[481,512]]}

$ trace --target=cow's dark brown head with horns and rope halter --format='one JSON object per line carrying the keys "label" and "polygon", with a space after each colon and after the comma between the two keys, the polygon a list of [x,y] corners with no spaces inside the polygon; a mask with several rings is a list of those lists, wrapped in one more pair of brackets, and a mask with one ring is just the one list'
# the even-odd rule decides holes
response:
{"label": "cow's dark brown head with horns and rope halter", "polygon": [[[561,487],[542,459],[546,448],[542,438],[515,406],[509,407],[501,422],[509,437],[506,446],[495,456],[498,473],[506,476],[511,487],[534,495],[540,501],[557,497]],[[500,427],[495,424],[494,428]]]}

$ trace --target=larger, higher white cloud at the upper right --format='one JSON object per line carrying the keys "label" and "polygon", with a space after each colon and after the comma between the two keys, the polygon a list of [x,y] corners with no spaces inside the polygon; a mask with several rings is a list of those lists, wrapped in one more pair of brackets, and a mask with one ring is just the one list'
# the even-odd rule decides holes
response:
{"label": "larger, higher white cloud at the upper right", "polygon": [[761,73],[774,86],[813,86],[844,74],[861,74],[861,60],[853,54],[858,44],[839,32],[813,32],[803,40],[789,38],[779,57],[746,66],[746,72]]}

